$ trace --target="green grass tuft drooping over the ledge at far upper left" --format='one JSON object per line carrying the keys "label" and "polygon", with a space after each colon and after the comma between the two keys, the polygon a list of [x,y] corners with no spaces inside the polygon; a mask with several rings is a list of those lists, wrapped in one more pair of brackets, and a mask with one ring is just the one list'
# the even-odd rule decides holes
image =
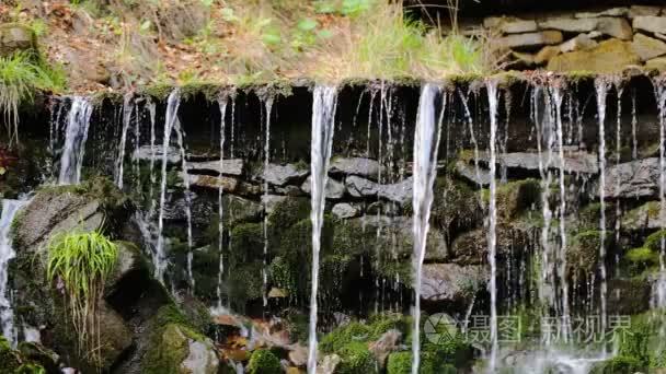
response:
{"label": "green grass tuft drooping over the ledge at far upper left", "polygon": [[19,106],[31,103],[38,90],[60,91],[64,86],[62,71],[47,67],[34,52],[0,58],[0,110],[10,145],[19,141]]}

